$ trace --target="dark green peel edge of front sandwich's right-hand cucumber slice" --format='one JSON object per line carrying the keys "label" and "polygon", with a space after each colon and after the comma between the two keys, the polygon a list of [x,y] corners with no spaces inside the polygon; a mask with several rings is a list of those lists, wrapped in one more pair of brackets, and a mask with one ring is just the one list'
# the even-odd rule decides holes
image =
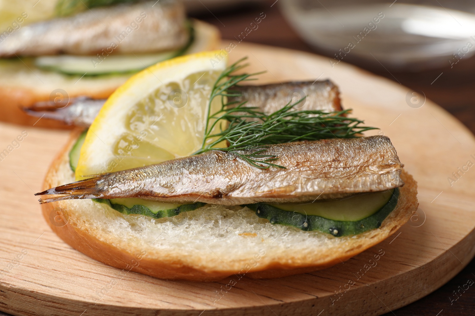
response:
{"label": "dark green peel edge of front sandwich's right-hand cucumber slice", "polygon": [[304,231],[317,230],[333,236],[358,235],[368,230],[379,228],[382,221],[396,208],[399,189],[394,189],[391,197],[380,210],[358,221],[336,221],[315,215],[304,215],[296,211],[285,211],[269,204],[257,203],[247,205],[256,211],[256,215],[266,218],[271,224],[294,226]]}

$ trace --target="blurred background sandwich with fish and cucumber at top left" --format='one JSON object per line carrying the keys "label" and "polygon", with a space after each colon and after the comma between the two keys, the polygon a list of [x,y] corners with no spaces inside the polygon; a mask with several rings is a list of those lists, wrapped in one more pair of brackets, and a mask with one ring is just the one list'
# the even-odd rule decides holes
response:
{"label": "blurred background sandwich with fish and cucumber at top left", "polygon": [[25,9],[12,2],[0,9],[0,16],[13,21],[0,30],[0,117],[7,122],[65,127],[22,108],[106,99],[142,69],[219,45],[217,28],[188,19],[180,1],[33,4]]}

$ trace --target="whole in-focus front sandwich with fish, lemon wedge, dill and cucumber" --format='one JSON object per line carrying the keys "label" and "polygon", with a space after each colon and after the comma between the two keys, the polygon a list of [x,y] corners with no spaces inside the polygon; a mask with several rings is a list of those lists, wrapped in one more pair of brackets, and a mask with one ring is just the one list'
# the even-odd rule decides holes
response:
{"label": "whole in-focus front sandwich with fish, lemon wedge, dill and cucumber", "polygon": [[215,53],[138,73],[73,131],[37,193],[67,244],[161,279],[276,278],[344,262],[408,221],[416,181],[335,84],[247,86],[243,62],[213,67]]}

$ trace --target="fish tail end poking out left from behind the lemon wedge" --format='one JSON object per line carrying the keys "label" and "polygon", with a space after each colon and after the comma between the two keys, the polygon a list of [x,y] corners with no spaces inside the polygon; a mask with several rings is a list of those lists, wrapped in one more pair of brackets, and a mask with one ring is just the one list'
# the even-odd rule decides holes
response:
{"label": "fish tail end poking out left from behind the lemon wedge", "polygon": [[54,102],[37,102],[33,107],[23,110],[31,116],[51,118],[63,121],[67,125],[91,126],[99,110],[104,105],[104,99],[78,97],[70,99],[66,107],[60,107]]}

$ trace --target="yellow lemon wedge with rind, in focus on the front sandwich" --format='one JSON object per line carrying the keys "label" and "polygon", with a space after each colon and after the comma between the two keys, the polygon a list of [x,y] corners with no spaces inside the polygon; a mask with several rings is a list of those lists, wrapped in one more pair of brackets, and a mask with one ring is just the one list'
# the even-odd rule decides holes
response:
{"label": "yellow lemon wedge with rind, in focus on the front sandwich", "polygon": [[[227,63],[226,58],[211,63],[216,53],[157,63],[115,90],[87,132],[76,180],[161,163],[199,150],[209,111],[221,108],[220,98],[209,104]],[[215,128],[218,132],[219,124]]]}

